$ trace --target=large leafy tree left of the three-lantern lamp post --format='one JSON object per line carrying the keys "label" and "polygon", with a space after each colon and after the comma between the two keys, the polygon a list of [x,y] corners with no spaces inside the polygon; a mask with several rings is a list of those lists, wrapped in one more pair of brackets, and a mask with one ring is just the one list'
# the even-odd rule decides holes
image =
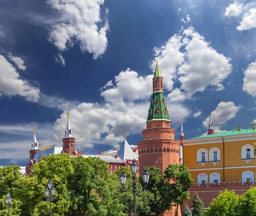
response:
{"label": "large leafy tree left of the three-lantern lamp post", "polygon": [[74,172],[68,177],[68,215],[122,215],[122,205],[115,199],[117,179],[111,178],[108,162],[98,157],[73,157],[71,162]]}

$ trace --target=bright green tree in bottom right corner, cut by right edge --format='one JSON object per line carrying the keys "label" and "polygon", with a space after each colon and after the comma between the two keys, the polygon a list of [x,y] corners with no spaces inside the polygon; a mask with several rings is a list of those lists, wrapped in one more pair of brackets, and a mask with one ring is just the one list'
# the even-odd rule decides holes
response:
{"label": "bright green tree in bottom right corner, cut by right edge", "polygon": [[238,215],[256,215],[256,188],[250,187],[244,194],[239,196],[237,205]]}

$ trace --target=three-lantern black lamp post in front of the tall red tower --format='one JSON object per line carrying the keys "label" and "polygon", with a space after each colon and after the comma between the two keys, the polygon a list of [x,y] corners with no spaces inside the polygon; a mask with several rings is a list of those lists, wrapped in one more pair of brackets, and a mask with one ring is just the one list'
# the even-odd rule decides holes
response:
{"label": "three-lantern black lamp post in front of the tall red tower", "polygon": [[[124,171],[122,171],[122,174],[119,175],[119,178],[120,178],[120,182],[121,182],[122,189],[124,192],[127,192],[130,188],[133,189],[132,192],[134,194],[134,216],[136,216],[136,191],[137,191],[136,188],[137,188],[137,184],[140,188],[141,188],[141,186],[140,186],[140,182],[136,178],[138,164],[135,162],[135,160],[133,160],[132,163],[130,164],[130,168],[131,168],[131,173],[133,175],[133,180],[131,182],[129,182],[128,189],[125,189],[125,182],[127,179],[127,175],[125,175]],[[143,176],[145,191],[148,191],[147,185],[148,185],[150,173],[148,173],[148,170],[145,170],[145,172],[142,173],[142,176]]]}

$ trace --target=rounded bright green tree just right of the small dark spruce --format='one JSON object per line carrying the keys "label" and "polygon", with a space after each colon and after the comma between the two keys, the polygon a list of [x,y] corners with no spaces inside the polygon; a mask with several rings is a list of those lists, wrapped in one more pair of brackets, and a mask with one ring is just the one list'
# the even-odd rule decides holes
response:
{"label": "rounded bright green tree just right of the small dark spruce", "polygon": [[236,216],[239,195],[233,190],[220,192],[207,208],[207,216]]}

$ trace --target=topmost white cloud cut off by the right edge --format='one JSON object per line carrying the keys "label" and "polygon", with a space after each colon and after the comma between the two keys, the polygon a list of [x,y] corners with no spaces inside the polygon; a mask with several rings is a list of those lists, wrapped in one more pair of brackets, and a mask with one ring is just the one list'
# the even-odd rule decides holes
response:
{"label": "topmost white cloud cut off by the right edge", "polygon": [[240,26],[237,26],[237,30],[247,30],[256,27],[256,8],[252,8],[248,13],[245,13]]}

